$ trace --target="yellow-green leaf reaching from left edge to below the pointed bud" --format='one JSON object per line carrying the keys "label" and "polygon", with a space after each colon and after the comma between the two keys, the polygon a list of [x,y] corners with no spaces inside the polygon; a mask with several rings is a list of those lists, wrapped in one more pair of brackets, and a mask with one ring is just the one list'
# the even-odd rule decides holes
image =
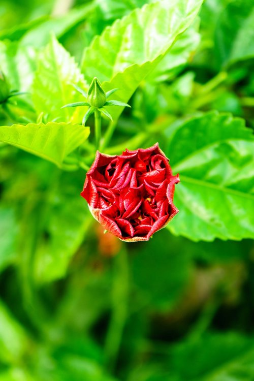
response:
{"label": "yellow-green leaf reaching from left edge to below the pointed bud", "polygon": [[71,123],[13,124],[0,126],[0,141],[60,167],[65,157],[87,139],[89,132],[89,128]]}

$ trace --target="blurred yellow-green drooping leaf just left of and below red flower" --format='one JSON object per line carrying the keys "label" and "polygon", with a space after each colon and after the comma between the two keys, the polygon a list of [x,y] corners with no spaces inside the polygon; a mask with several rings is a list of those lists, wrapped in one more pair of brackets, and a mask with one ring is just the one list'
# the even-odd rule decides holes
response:
{"label": "blurred yellow-green drooping leaf just left of and below red flower", "polygon": [[[69,262],[80,246],[91,218],[80,197],[85,174],[77,181],[76,172],[60,174],[57,186],[43,210],[43,221],[34,252],[34,276],[37,283],[60,278],[66,274]],[[38,200],[39,201],[39,200]],[[45,212],[46,210],[46,212]],[[36,211],[36,209],[35,209]],[[40,215],[39,214],[39,215]]]}

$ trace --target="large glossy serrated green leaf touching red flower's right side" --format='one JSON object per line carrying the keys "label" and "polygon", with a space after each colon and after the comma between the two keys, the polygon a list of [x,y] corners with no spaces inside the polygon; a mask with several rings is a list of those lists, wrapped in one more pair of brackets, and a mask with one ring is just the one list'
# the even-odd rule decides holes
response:
{"label": "large glossy serrated green leaf touching red flower's right side", "polygon": [[181,180],[169,229],[193,240],[254,237],[254,141],[244,121],[214,112],[168,133],[167,155]]}

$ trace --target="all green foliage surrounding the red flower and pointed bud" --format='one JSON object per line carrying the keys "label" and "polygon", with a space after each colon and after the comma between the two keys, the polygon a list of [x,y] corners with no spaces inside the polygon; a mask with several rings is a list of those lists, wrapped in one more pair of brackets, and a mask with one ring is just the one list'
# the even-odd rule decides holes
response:
{"label": "all green foliage surrounding the red flower and pointed bud", "polygon": [[[0,70],[25,93],[0,105],[0,381],[254,379],[254,5],[201,3],[1,1]],[[180,173],[149,242],[79,196],[93,120],[61,106],[94,75],[132,106],[104,151],[158,142]]]}

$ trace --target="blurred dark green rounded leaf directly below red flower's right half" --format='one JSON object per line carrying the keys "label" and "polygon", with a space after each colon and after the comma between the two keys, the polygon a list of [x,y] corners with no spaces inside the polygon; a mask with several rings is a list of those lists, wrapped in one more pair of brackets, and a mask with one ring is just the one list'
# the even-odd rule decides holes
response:
{"label": "blurred dark green rounded leaf directly below red flower's right half", "polygon": [[131,252],[135,254],[132,278],[142,303],[145,301],[150,308],[168,311],[179,300],[192,273],[186,248],[182,247],[179,252],[179,243],[165,229],[145,246],[138,245]]}

